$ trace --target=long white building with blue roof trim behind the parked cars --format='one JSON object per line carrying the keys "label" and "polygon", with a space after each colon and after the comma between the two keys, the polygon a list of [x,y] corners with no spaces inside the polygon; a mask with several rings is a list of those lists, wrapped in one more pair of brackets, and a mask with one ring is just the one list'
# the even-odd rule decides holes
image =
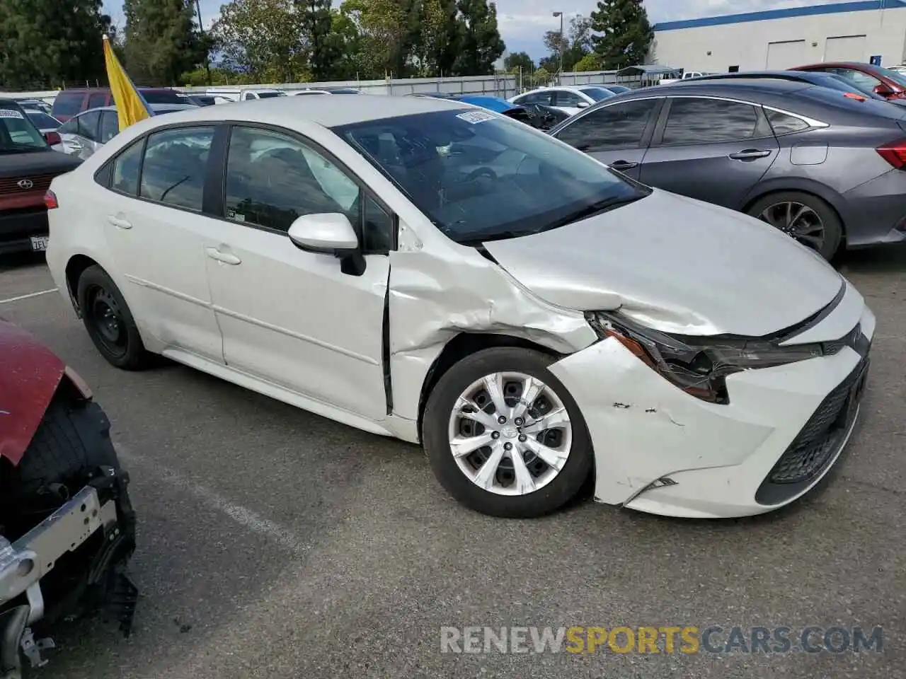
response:
{"label": "long white building with blue roof trim behind the parked cars", "polygon": [[655,24],[651,61],[686,71],[906,62],[906,0],[863,0]]}

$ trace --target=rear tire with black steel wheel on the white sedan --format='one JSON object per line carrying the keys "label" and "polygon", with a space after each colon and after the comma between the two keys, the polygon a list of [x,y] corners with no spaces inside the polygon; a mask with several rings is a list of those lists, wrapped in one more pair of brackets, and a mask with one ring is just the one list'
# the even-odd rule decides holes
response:
{"label": "rear tire with black steel wheel on the white sedan", "polygon": [[100,266],[90,266],[79,277],[77,291],[82,322],[94,346],[111,366],[141,370],[151,355],[120,289]]}

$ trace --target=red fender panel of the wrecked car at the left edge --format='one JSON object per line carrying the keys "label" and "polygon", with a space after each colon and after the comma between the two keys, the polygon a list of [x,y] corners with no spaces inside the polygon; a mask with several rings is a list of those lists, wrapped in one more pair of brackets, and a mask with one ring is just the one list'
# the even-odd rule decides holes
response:
{"label": "red fender panel of the wrecked car at the left edge", "polygon": [[0,457],[19,464],[65,370],[53,351],[0,320]]}

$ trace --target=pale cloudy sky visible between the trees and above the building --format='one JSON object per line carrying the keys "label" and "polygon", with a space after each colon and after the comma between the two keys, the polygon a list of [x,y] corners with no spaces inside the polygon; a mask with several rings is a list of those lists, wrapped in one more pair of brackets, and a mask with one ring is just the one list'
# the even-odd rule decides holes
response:
{"label": "pale cloudy sky visible between the trees and above the building", "polygon": [[[830,5],[843,0],[645,0],[651,23],[694,19],[700,16],[757,12],[782,7],[803,5]],[[211,24],[220,10],[223,0],[201,0],[201,18]],[[596,0],[496,0],[497,21],[500,33],[509,52],[525,51],[535,60],[545,56],[542,36],[545,31],[559,30],[560,20],[554,19],[554,11],[566,14],[566,23],[573,14],[591,14]],[[334,6],[340,0],[334,0]],[[123,24],[121,0],[105,0],[104,6],[113,17],[114,23]]]}

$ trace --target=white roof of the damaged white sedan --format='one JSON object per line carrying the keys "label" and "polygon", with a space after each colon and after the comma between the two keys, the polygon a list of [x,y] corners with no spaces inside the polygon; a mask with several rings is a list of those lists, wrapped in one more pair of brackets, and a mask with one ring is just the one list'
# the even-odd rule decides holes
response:
{"label": "white roof of the damaged white sedan", "polygon": [[398,97],[388,94],[365,96],[369,98],[367,106],[350,106],[345,97],[275,97],[232,101],[172,113],[167,116],[167,122],[246,120],[292,128],[294,121],[303,118],[325,128],[333,128],[439,110],[473,110],[473,107],[464,102],[433,97]]}

